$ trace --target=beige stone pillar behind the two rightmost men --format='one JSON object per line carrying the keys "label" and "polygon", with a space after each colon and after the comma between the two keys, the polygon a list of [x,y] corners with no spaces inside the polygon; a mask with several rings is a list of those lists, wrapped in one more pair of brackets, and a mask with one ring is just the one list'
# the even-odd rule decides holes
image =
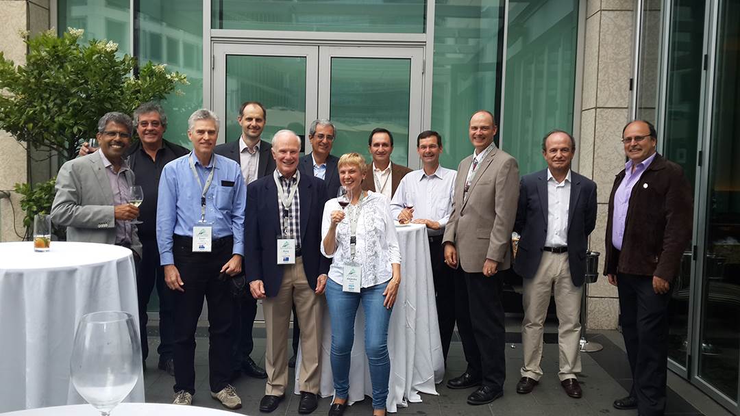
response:
{"label": "beige stone pillar behind the two rightmost men", "polygon": [[[634,3],[588,0],[586,7],[579,169],[598,186],[598,216],[591,233],[591,250],[602,253],[599,274],[604,265],[609,193],[614,175],[625,163],[619,139],[629,117]],[[615,329],[619,318],[616,287],[599,276],[588,290],[588,328]]]}

